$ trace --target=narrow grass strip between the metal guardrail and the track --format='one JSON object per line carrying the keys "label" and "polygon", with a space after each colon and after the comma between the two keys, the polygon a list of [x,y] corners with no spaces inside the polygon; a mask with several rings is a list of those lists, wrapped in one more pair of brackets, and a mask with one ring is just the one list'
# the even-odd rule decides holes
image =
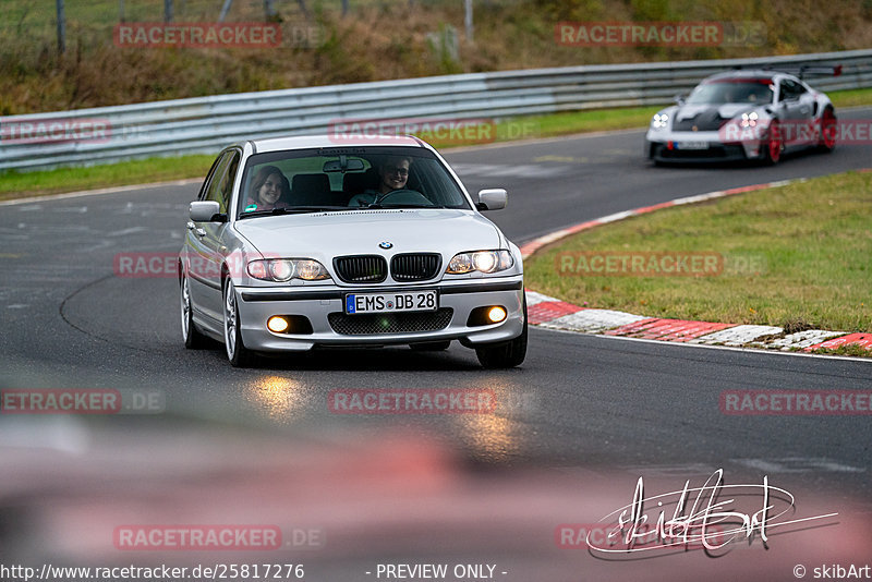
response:
{"label": "narrow grass strip between the metal guardrail and the track", "polygon": [[[872,88],[834,92],[836,107],[872,105]],[[518,138],[555,137],[594,131],[644,128],[659,107],[596,109],[547,116],[529,116],[502,121],[496,126],[496,142]],[[428,136],[422,135],[423,138]],[[431,141],[437,148],[451,143]],[[152,158],[121,163],[63,168],[37,172],[0,172],[0,201],[41,196],[98,187],[143,184],[166,180],[199,178],[206,174],[214,156]]]}

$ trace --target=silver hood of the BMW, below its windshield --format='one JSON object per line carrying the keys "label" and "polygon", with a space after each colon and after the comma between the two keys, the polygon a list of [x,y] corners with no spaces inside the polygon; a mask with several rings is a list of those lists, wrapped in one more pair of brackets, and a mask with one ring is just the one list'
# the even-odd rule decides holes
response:
{"label": "silver hood of the BMW, below its windshield", "polygon": [[235,229],[264,256],[289,258],[414,252],[438,252],[450,257],[461,251],[508,244],[493,222],[457,209],[270,216],[238,220]]}

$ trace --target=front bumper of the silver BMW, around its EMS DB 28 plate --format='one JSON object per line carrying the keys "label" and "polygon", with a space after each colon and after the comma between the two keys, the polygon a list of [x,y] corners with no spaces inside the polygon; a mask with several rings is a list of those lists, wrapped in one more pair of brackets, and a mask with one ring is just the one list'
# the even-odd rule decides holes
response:
{"label": "front bumper of the silver BMW, around its EMS DB 28 plate", "polygon": [[[348,293],[438,291],[440,312],[408,312],[414,316],[382,313],[373,315],[343,314]],[[316,345],[376,347],[408,344],[439,340],[462,340],[476,345],[517,338],[523,329],[523,276],[464,279],[431,284],[353,287],[319,286],[317,288],[237,288],[242,341],[246,348],[258,352],[305,351]],[[508,315],[498,324],[468,326],[470,313],[475,307],[501,305]],[[450,310],[450,313],[448,312]],[[267,329],[272,315],[304,316],[312,326],[311,332],[276,334]],[[354,325],[363,318],[384,316],[385,322],[399,320],[400,331],[374,332],[367,326]],[[358,318],[356,320],[353,318]],[[331,323],[332,319],[332,323]],[[342,320],[349,325],[337,325]],[[405,323],[411,322],[409,325]],[[444,325],[447,322],[447,325]],[[433,327],[436,329],[432,329]],[[353,331],[349,332],[349,328]],[[424,328],[423,330],[420,328]]]}

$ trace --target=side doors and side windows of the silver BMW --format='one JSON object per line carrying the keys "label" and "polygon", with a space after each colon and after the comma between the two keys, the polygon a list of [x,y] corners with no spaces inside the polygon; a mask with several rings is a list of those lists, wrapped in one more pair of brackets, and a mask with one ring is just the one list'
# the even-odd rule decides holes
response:
{"label": "side doors and side windows of the silver BMW", "polygon": [[[229,149],[213,166],[213,171],[207,183],[201,192],[201,201],[215,201],[220,213],[227,216],[233,181],[241,153]],[[221,298],[221,265],[223,264],[227,248],[222,243],[228,222],[190,221],[187,225],[189,272],[191,281],[191,299],[195,316],[206,317],[210,324],[217,326],[222,319]]]}

